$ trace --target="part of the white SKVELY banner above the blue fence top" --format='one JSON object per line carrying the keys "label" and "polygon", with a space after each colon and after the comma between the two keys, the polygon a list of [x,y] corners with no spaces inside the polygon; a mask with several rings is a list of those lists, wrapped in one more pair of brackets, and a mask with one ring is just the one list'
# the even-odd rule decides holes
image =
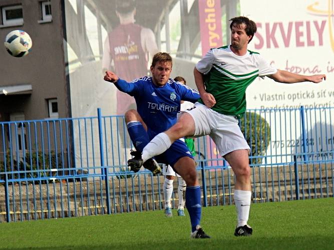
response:
{"label": "part of the white SKVELY banner above the blue fence top", "polygon": [[247,89],[248,108],[328,107],[334,104],[334,28],[332,1],[240,0],[241,14],[257,32],[248,49],[279,69],[326,74],[320,83],[276,83],[257,78]]}

